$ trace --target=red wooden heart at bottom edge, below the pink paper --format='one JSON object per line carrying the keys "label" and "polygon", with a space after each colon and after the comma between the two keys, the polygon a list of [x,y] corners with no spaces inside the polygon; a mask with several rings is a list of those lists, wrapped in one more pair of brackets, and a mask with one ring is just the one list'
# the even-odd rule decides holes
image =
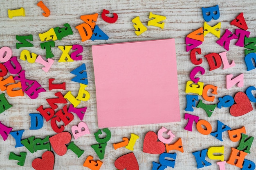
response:
{"label": "red wooden heart at bottom edge, below the pink paper", "polygon": [[133,152],[117,158],[115,167],[119,170],[139,170],[139,164]]}

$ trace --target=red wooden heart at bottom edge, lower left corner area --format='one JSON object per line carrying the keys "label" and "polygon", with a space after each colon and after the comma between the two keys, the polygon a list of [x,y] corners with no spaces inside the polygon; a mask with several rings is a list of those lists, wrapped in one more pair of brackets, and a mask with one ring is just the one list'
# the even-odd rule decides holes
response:
{"label": "red wooden heart at bottom edge, lower left corner area", "polygon": [[46,151],[43,153],[42,158],[36,158],[32,161],[32,167],[35,170],[53,170],[54,161],[54,153],[52,151]]}

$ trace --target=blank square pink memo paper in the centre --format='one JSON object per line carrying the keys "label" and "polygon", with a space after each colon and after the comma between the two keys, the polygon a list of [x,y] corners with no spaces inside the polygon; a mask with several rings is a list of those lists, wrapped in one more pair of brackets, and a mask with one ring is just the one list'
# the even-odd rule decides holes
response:
{"label": "blank square pink memo paper in the centre", "polygon": [[174,39],[92,46],[99,128],[180,121]]}

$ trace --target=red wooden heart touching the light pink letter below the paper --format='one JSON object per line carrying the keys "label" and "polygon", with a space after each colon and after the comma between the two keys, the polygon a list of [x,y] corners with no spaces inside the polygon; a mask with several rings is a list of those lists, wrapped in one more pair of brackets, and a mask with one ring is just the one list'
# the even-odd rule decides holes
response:
{"label": "red wooden heart touching the light pink letter below the paper", "polygon": [[161,154],[165,151],[165,145],[161,141],[157,141],[157,134],[153,131],[146,133],[143,143],[143,152],[151,154]]}

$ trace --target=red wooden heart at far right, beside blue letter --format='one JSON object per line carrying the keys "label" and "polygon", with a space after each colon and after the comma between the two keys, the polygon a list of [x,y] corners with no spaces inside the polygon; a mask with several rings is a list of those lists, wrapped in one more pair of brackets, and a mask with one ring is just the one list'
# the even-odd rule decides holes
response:
{"label": "red wooden heart at far right, beside blue letter", "polygon": [[229,109],[232,116],[242,116],[253,110],[252,104],[245,93],[237,92],[234,100],[236,104],[232,105]]}

